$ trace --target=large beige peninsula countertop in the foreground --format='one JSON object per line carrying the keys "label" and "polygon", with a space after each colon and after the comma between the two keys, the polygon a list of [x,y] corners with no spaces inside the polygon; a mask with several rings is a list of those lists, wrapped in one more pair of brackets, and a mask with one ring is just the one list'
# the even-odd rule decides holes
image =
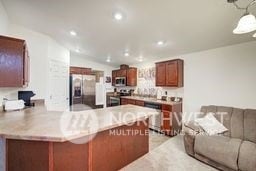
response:
{"label": "large beige peninsula countertop in the foreground", "polygon": [[[131,115],[131,113],[135,115]],[[142,121],[154,114],[157,114],[154,109],[134,105],[81,112],[50,112],[45,107],[0,112],[0,137],[16,140],[65,142],[128,123]],[[83,120],[84,118],[87,118],[86,121]],[[79,128],[74,129],[74,123],[79,123]],[[82,127],[81,123],[84,123]]]}

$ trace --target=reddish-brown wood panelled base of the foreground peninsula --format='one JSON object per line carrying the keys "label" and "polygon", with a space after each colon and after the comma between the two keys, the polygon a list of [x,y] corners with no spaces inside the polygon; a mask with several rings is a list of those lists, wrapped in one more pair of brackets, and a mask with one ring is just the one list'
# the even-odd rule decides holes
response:
{"label": "reddish-brown wood panelled base of the foreground peninsula", "polygon": [[99,132],[84,144],[7,139],[6,148],[7,171],[116,171],[148,153],[148,125]]}

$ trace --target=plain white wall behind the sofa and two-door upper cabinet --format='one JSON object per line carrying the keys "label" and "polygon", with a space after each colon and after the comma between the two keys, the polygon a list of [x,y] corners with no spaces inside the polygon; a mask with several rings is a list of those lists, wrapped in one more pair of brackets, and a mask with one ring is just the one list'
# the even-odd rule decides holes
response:
{"label": "plain white wall behind the sofa and two-door upper cabinet", "polygon": [[[255,55],[256,41],[159,59],[182,58],[185,63],[184,88],[163,90],[182,96],[187,113],[210,104],[256,109]],[[135,66],[152,67],[154,62]]]}

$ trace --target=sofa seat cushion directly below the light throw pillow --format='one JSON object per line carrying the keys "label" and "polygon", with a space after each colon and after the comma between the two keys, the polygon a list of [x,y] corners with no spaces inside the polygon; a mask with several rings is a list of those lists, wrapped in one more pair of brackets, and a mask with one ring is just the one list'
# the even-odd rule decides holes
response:
{"label": "sofa seat cushion directly below the light throw pillow", "polygon": [[240,144],[240,139],[218,135],[198,135],[195,138],[195,153],[231,169],[238,170],[237,159]]}

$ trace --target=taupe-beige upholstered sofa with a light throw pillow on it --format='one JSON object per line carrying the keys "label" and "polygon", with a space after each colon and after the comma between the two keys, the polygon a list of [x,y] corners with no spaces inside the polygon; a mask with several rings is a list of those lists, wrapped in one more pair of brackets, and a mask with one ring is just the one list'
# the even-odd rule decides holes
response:
{"label": "taupe-beige upholstered sofa with a light throw pillow on it", "polygon": [[203,106],[202,116],[215,113],[217,120],[225,112],[223,125],[229,130],[209,136],[194,122],[185,124],[186,152],[224,171],[256,171],[256,110],[222,106]]}

